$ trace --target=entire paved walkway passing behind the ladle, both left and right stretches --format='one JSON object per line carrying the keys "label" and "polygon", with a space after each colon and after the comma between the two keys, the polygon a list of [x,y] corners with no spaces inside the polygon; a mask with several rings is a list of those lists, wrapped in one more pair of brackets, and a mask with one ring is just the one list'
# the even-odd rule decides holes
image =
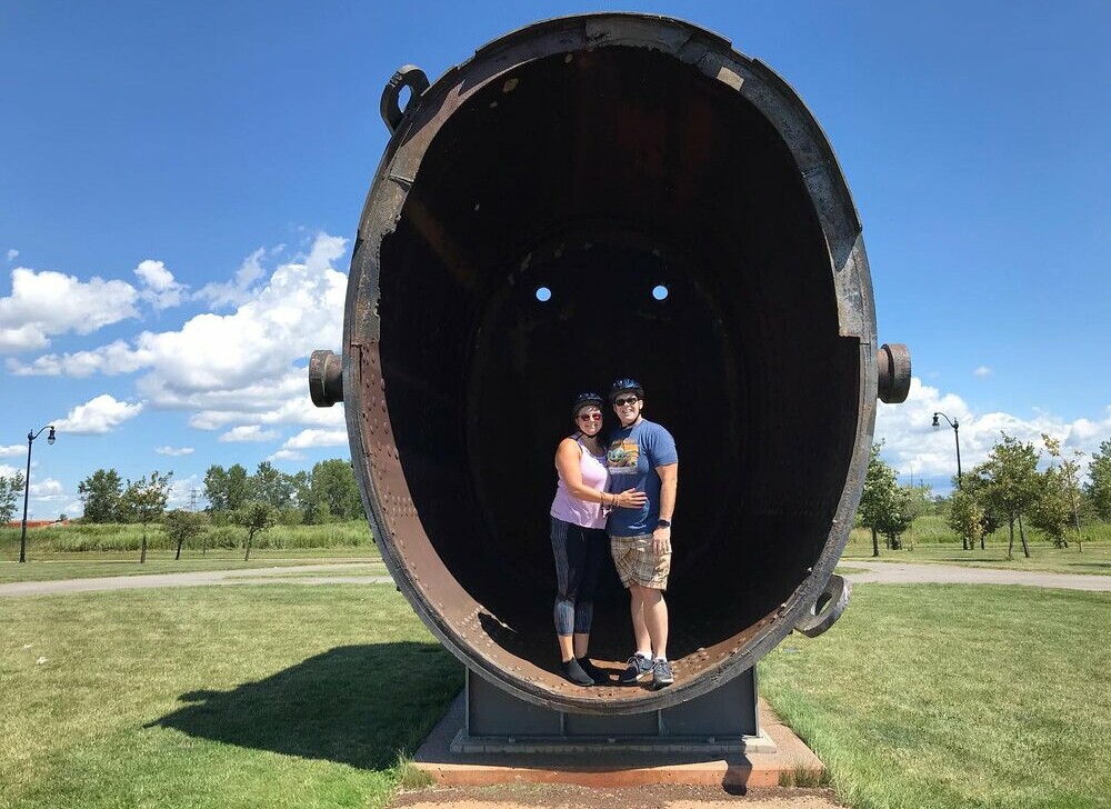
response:
{"label": "entire paved walkway passing behind the ladle, both left and right stretches", "polygon": [[[1111,592],[1111,576],[1089,573],[1049,573],[1032,570],[963,568],[957,565],[908,565],[844,559],[847,568],[865,570],[849,573],[853,585],[1024,585],[1058,587],[1067,590]],[[336,571],[366,569],[366,576],[329,576]],[[212,585],[389,585],[389,576],[370,572],[371,566],[359,562],[339,565],[296,565],[283,568],[248,570],[202,570],[191,573],[152,573],[150,576],[109,576],[99,579],[20,581],[0,585],[2,596],[44,596],[56,592],[94,590],[137,590],[149,587],[209,587]]]}

